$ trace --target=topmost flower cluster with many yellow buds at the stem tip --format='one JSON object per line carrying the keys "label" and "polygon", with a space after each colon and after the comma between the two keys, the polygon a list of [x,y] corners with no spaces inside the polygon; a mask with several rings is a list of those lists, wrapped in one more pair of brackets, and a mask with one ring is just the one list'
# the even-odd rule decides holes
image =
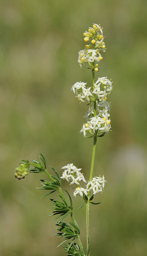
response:
{"label": "topmost flower cluster with many yellow buds at the stem tip", "polygon": [[[98,64],[95,65],[95,61],[102,60],[100,50],[105,52],[106,46],[104,43],[104,36],[100,25],[93,24],[93,27],[89,27],[88,31],[83,33],[84,42],[90,42],[86,44],[84,50],[78,53],[78,63],[82,67],[82,64],[89,63],[91,69],[98,71]],[[93,45],[93,47],[92,47]]]}

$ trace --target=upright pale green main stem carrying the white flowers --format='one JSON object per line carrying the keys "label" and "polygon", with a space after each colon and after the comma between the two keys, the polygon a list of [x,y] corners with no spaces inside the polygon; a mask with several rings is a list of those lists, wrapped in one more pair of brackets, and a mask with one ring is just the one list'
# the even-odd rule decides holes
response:
{"label": "upright pale green main stem carrying the white flowers", "polygon": [[[95,72],[92,71],[92,80],[93,80],[93,87],[95,84]],[[96,100],[93,102],[93,110],[94,110],[94,116],[96,116]],[[92,160],[91,160],[91,169],[90,169],[90,177],[89,181],[92,180],[93,176],[93,168],[94,168],[94,162],[95,162],[95,152],[96,152],[96,141],[97,141],[97,131],[95,135],[93,136],[93,150],[92,150]],[[88,250],[89,246],[89,199],[90,199],[90,192],[88,193],[88,201],[86,201],[86,246]],[[88,256],[90,256],[90,252],[88,253]]]}

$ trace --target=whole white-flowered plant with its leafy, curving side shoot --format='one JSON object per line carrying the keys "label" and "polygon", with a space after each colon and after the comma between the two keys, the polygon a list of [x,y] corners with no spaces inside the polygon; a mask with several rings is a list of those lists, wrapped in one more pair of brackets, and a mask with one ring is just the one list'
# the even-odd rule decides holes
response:
{"label": "whole white-flowered plant with its leafy, curving side shoot", "polygon": [[[46,169],[46,160],[45,157],[40,154],[40,159],[42,162],[37,159],[29,162],[28,160],[22,160],[23,163],[20,163],[20,167],[15,169],[15,177],[18,179],[24,178],[29,172],[31,173],[41,173],[45,172],[49,177],[48,180],[41,180],[41,187],[39,189],[49,190],[47,194],[50,195],[55,191],[58,191],[60,200],[50,199],[53,203],[53,212],[47,216],[54,216],[54,221],[58,220],[57,233],[60,238],[63,238],[63,241],[59,244],[61,246],[64,244],[63,248],[65,253],[68,256],[77,255],[77,256],[89,256],[90,255],[90,238],[89,238],[89,204],[100,204],[101,202],[93,202],[93,198],[98,192],[103,192],[105,186],[104,175],[102,177],[93,177],[93,167],[95,160],[95,150],[97,137],[102,137],[105,134],[109,133],[111,128],[110,120],[110,104],[106,101],[107,96],[112,90],[112,82],[107,79],[107,77],[98,77],[95,82],[95,72],[98,70],[98,62],[102,60],[100,51],[105,52],[105,43],[103,31],[100,25],[93,24],[93,27],[89,27],[88,31],[83,33],[84,42],[89,42],[85,45],[85,48],[78,53],[78,63],[82,67],[82,64],[85,65],[88,69],[92,71],[92,85],[91,87],[87,86],[87,83],[76,82],[71,90],[74,92],[78,100],[81,102],[88,101],[88,111],[85,114],[86,123],[83,124],[80,133],[83,133],[84,137],[93,138],[93,151],[92,151],[92,161],[91,161],[91,170],[89,175],[89,180],[86,181],[83,173],[81,172],[82,168],[77,168],[75,165],[67,164],[61,169],[63,173],[60,175],[55,168],[51,167],[55,172],[55,175],[51,175]],[[87,136],[86,136],[87,135]],[[30,166],[33,166],[32,168]],[[74,185],[74,197],[81,196],[83,198],[83,207],[86,204],[86,241],[87,241],[87,250],[84,253],[83,245],[80,239],[80,229],[75,221],[73,215],[73,203],[72,198],[69,192],[64,189],[66,194],[69,196],[70,205],[68,204],[66,197],[61,188],[62,179],[66,179],[70,185]],[[81,186],[81,181],[86,183],[86,188]],[[42,196],[42,197],[43,197]],[[80,208],[81,208],[80,207]],[[70,214],[71,222],[69,224],[63,222],[64,218]],[[58,246],[58,247],[59,247]]]}

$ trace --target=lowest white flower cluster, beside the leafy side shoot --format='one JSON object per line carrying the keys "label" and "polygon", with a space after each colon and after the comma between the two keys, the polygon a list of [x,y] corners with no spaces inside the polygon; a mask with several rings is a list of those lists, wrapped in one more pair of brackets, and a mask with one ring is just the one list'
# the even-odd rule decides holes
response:
{"label": "lowest white flower cluster, beside the leafy side shoot", "polygon": [[[105,186],[105,178],[103,177],[94,177],[92,178],[92,181],[85,180],[83,174],[80,172],[82,168],[78,169],[73,164],[68,164],[62,167],[61,169],[64,169],[64,172],[62,173],[61,179],[66,179],[66,181],[70,181],[71,184],[75,184],[76,188],[73,193],[74,197],[76,198],[76,195],[80,195],[83,197],[85,194],[87,196],[88,191],[93,191],[93,195],[97,194],[98,192],[102,192]],[[83,181],[86,182],[86,188],[83,188],[80,186],[79,182]]]}

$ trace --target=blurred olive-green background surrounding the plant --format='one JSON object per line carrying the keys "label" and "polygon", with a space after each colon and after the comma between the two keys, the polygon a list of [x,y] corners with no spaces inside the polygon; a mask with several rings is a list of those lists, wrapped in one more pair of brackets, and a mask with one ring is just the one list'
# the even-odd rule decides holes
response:
{"label": "blurred olive-green background surrounding the plant", "polygon": [[[93,141],[79,133],[87,107],[70,88],[91,84],[77,57],[92,23],[104,27],[107,48],[96,75],[114,87],[112,132],[96,149],[94,175],[108,183],[95,198],[103,203],[91,205],[91,255],[147,255],[147,1],[1,0],[0,256],[64,255],[44,218],[52,203],[35,189],[45,174],[19,181],[14,170],[41,152],[48,169],[73,162],[88,179]],[[85,247],[85,208],[73,202]]]}

